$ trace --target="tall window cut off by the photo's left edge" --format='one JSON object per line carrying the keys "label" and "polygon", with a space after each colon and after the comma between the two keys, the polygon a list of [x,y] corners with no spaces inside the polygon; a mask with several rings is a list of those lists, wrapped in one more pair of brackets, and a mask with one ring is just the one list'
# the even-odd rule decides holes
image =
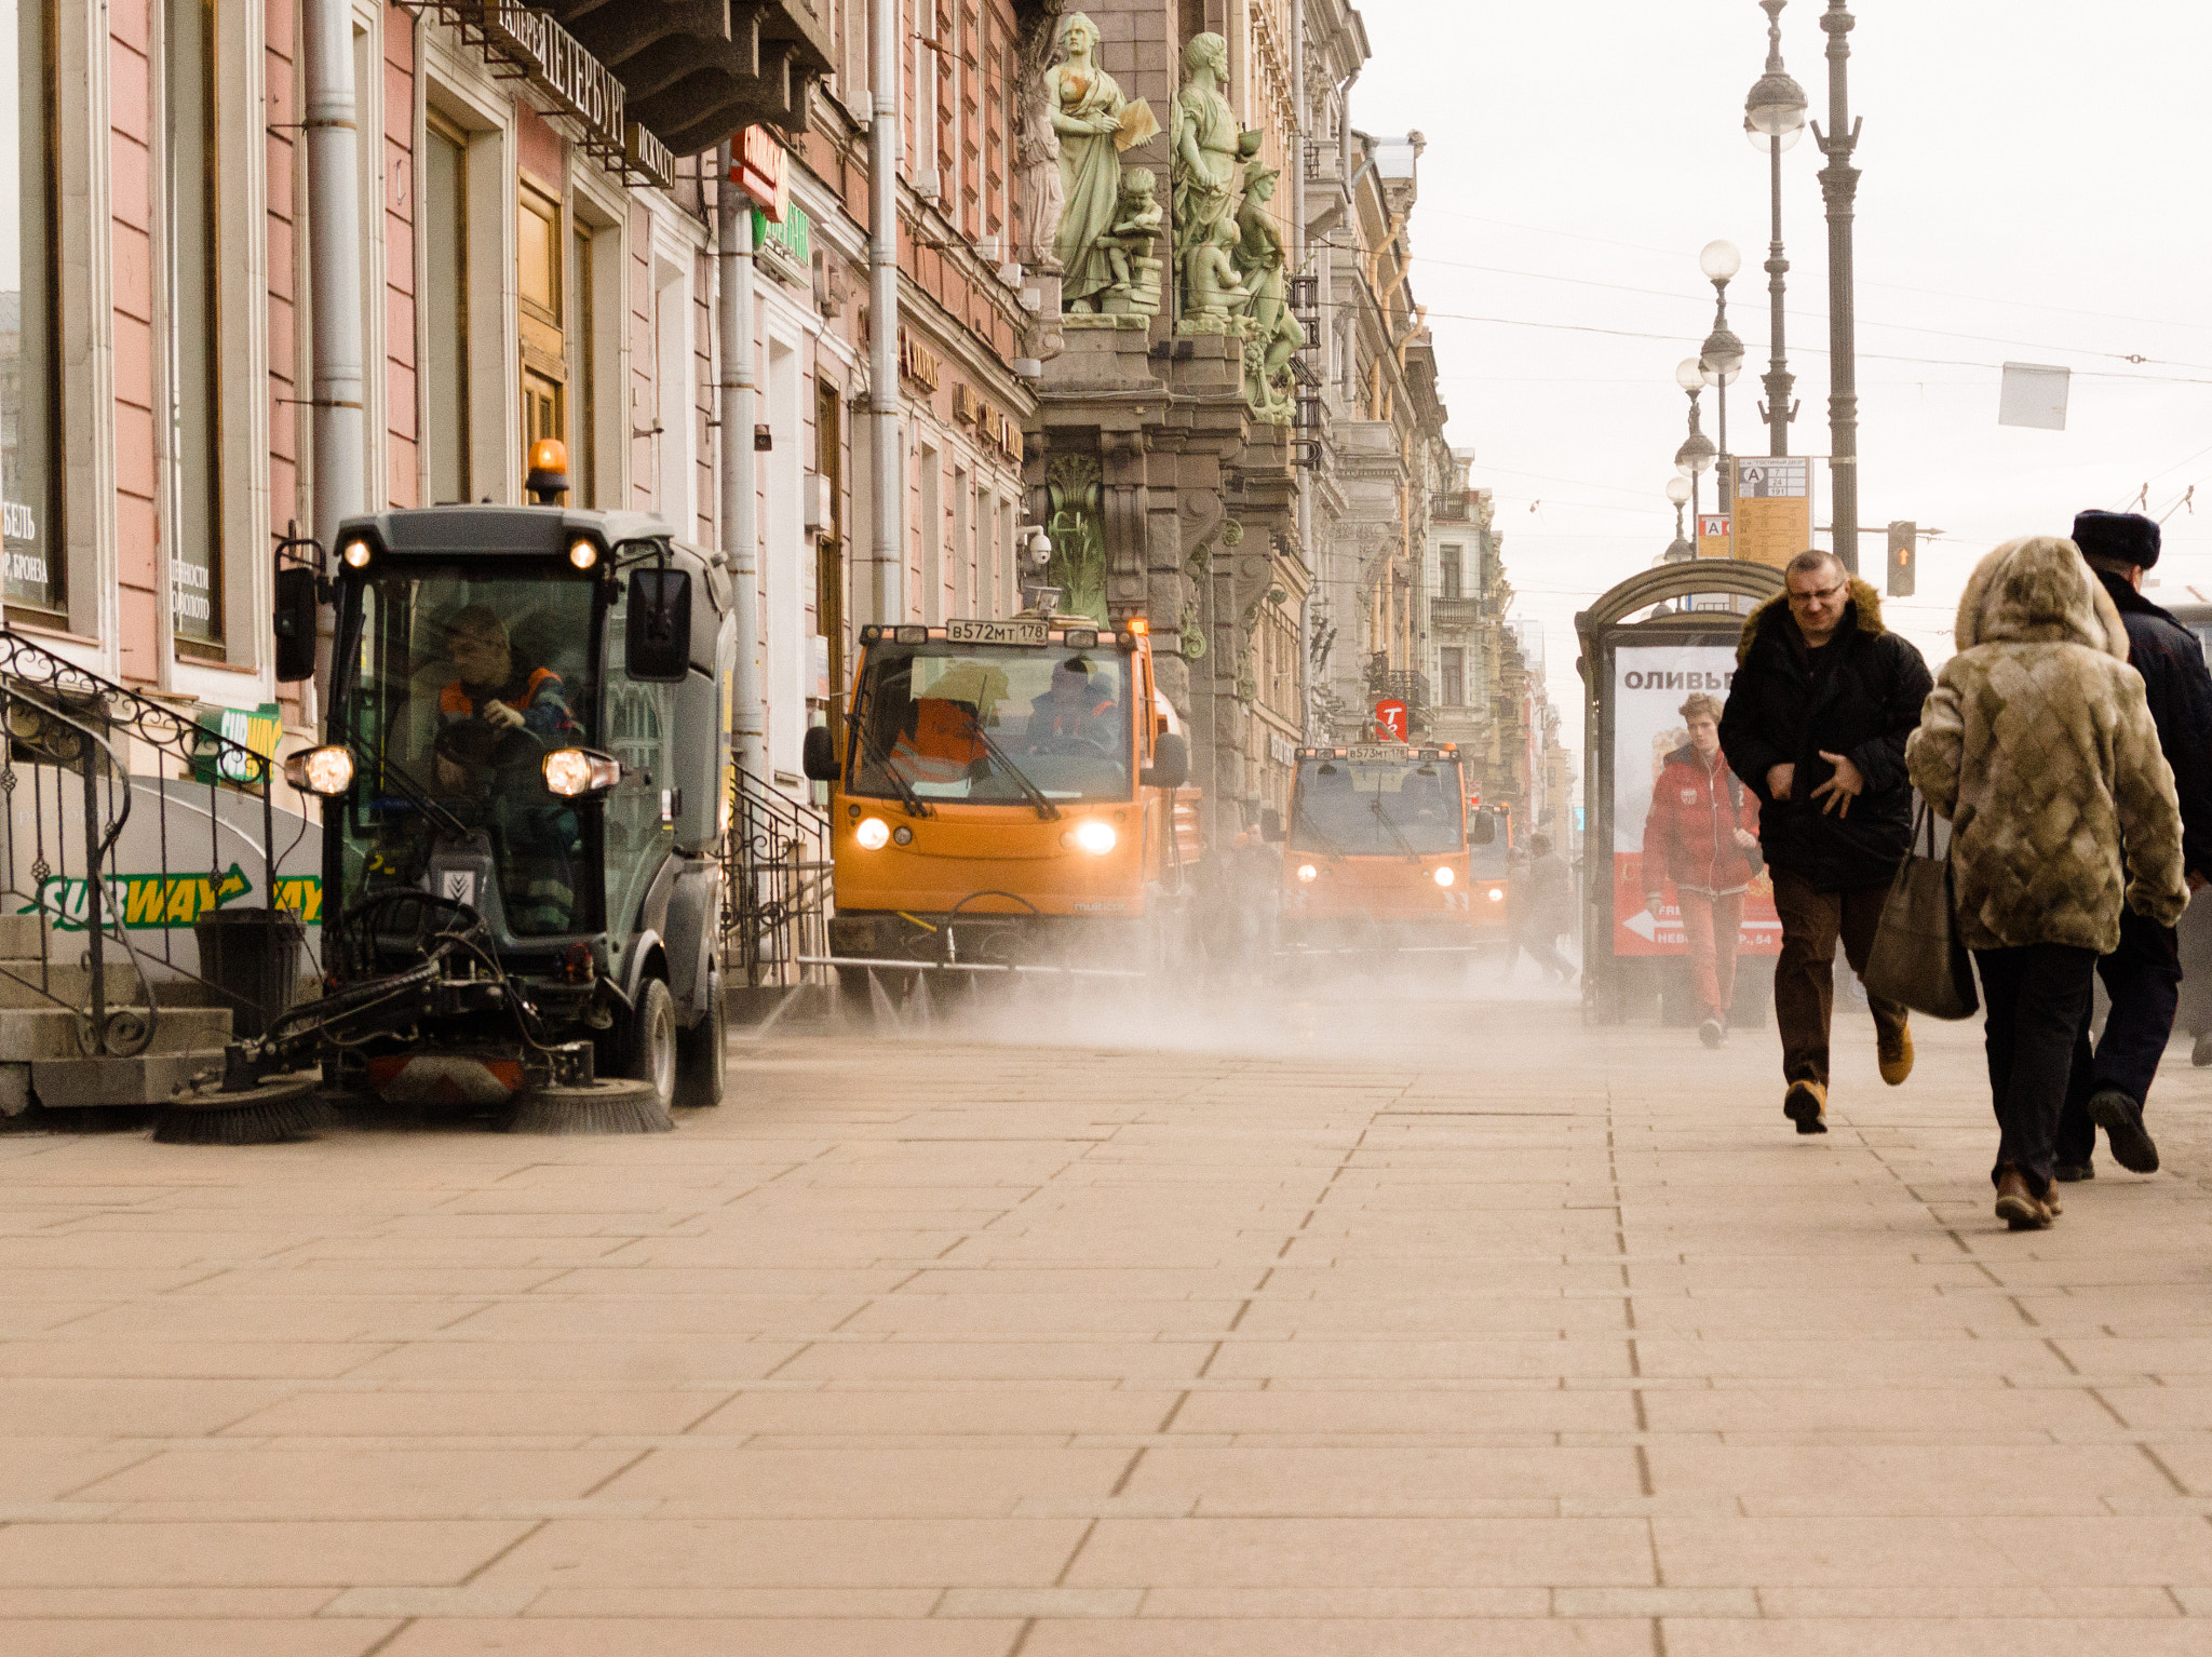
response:
{"label": "tall window cut off by the photo's left edge", "polygon": [[55,511],[53,53],[51,0],[0,0],[0,84],[18,104],[0,124],[0,546],[9,606],[58,615],[66,591]]}

